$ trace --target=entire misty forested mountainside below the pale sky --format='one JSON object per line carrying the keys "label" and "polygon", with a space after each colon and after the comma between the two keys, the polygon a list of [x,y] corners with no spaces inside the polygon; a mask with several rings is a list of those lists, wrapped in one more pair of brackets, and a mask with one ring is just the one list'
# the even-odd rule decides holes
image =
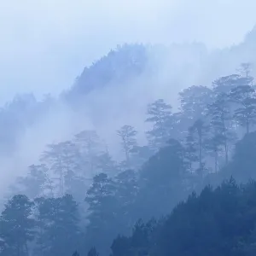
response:
{"label": "entire misty forested mountainside below the pale sky", "polygon": [[[0,256],[255,255],[255,34],[219,59],[124,44],[60,96],[6,103]],[[159,65],[188,48],[183,73]]]}

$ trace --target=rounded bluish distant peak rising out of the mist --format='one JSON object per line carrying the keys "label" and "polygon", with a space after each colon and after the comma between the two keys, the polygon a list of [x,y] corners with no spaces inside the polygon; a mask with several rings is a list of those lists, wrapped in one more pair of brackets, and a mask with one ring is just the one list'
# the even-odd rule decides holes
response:
{"label": "rounded bluish distant peak rising out of the mist", "polygon": [[113,81],[121,83],[143,73],[147,61],[147,48],[143,44],[125,44],[112,49],[90,67],[84,67],[68,95],[86,94]]}

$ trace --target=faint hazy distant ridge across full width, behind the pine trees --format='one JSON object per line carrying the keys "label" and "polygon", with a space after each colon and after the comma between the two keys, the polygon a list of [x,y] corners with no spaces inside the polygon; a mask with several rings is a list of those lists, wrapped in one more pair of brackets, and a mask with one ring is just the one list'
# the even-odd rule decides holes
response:
{"label": "faint hazy distant ridge across full width, behind the pine trees", "polygon": [[[47,115],[63,102],[73,109],[69,115],[81,112],[85,119],[88,114],[93,125],[104,124],[106,130],[112,129],[113,123],[121,124],[124,117],[134,125],[142,119],[148,102],[164,98],[176,107],[180,90],[193,84],[210,85],[220,76],[236,73],[236,68],[245,61],[256,63],[256,27],[241,44],[214,51],[199,43],[118,46],[90,67],[84,67],[70,89],[58,99],[49,97],[38,102],[34,96],[24,95],[6,104],[0,111],[0,154],[13,153],[20,137],[42,119],[47,122]],[[256,64],[254,75],[255,67]],[[55,114],[65,119],[65,113]],[[73,125],[69,120],[67,123]],[[48,138],[43,141],[48,143]]]}

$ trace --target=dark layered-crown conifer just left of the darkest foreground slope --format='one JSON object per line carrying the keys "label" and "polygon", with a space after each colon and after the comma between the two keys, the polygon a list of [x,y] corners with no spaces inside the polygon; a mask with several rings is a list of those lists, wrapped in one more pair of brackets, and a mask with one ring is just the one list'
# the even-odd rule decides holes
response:
{"label": "dark layered-crown conifer just left of the darkest foreground slope", "polygon": [[89,247],[96,245],[100,252],[108,250],[114,236],[118,233],[116,223],[118,204],[115,197],[116,186],[105,173],[93,177],[85,202],[88,204],[86,228]]}

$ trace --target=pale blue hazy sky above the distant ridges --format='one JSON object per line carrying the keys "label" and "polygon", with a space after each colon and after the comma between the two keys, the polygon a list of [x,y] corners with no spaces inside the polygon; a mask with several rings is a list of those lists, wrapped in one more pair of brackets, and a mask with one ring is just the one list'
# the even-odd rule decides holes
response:
{"label": "pale blue hazy sky above the distant ridges", "polygon": [[0,0],[0,102],[58,93],[116,44],[239,43],[255,0]]}

